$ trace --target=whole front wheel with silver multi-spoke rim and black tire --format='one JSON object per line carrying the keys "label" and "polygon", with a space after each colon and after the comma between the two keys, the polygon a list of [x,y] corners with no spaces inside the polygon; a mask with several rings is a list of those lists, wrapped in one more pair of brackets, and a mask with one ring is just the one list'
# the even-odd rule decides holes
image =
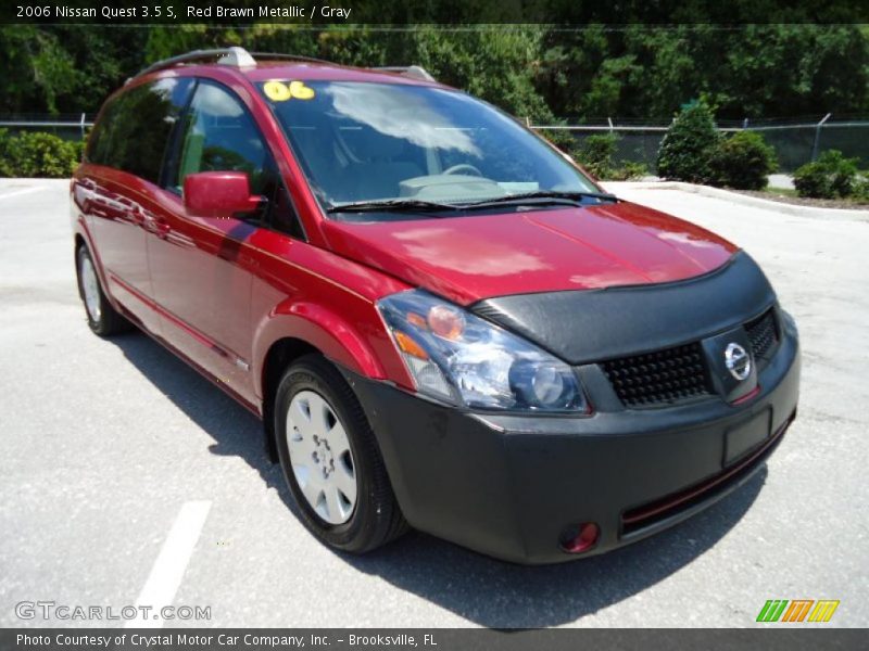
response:
{"label": "whole front wheel with silver multi-spoke rim and black tire", "polygon": [[363,553],[406,529],[374,433],[353,390],[319,355],[284,374],[275,399],[278,456],[305,526]]}

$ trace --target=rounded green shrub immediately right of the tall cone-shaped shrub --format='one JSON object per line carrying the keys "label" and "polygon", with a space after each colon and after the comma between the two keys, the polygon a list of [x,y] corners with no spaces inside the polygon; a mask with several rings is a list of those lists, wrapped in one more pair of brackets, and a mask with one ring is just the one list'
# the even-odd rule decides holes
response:
{"label": "rounded green shrub immediately right of the tall cone-shaped shrub", "polygon": [[710,151],[709,170],[714,186],[763,190],[767,186],[767,177],[776,169],[776,150],[753,131],[740,131],[721,139]]}

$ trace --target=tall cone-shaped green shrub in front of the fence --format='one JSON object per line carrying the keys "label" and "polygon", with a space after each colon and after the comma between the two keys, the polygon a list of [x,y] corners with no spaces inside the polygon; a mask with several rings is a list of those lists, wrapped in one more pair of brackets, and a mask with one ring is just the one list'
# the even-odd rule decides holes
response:
{"label": "tall cone-shaped green shrub in front of the fence", "polygon": [[706,102],[684,106],[660,141],[658,176],[690,183],[709,181],[709,159],[719,140],[713,111]]}

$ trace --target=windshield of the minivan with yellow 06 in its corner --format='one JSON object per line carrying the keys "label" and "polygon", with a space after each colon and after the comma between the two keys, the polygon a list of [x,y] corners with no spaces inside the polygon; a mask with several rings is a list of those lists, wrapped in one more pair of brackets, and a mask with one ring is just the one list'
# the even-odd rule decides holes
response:
{"label": "windshield of the minivan with yellow 06 in its corner", "polygon": [[260,88],[314,191],[330,208],[597,191],[509,116],[457,91],[291,80]]}

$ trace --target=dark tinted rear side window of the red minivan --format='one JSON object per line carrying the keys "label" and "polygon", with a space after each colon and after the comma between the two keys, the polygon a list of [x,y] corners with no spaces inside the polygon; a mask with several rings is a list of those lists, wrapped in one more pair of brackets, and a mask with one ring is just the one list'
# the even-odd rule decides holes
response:
{"label": "dark tinted rear side window of the red minivan", "polygon": [[166,144],[192,80],[159,79],[114,98],[88,142],[87,161],[160,182]]}

